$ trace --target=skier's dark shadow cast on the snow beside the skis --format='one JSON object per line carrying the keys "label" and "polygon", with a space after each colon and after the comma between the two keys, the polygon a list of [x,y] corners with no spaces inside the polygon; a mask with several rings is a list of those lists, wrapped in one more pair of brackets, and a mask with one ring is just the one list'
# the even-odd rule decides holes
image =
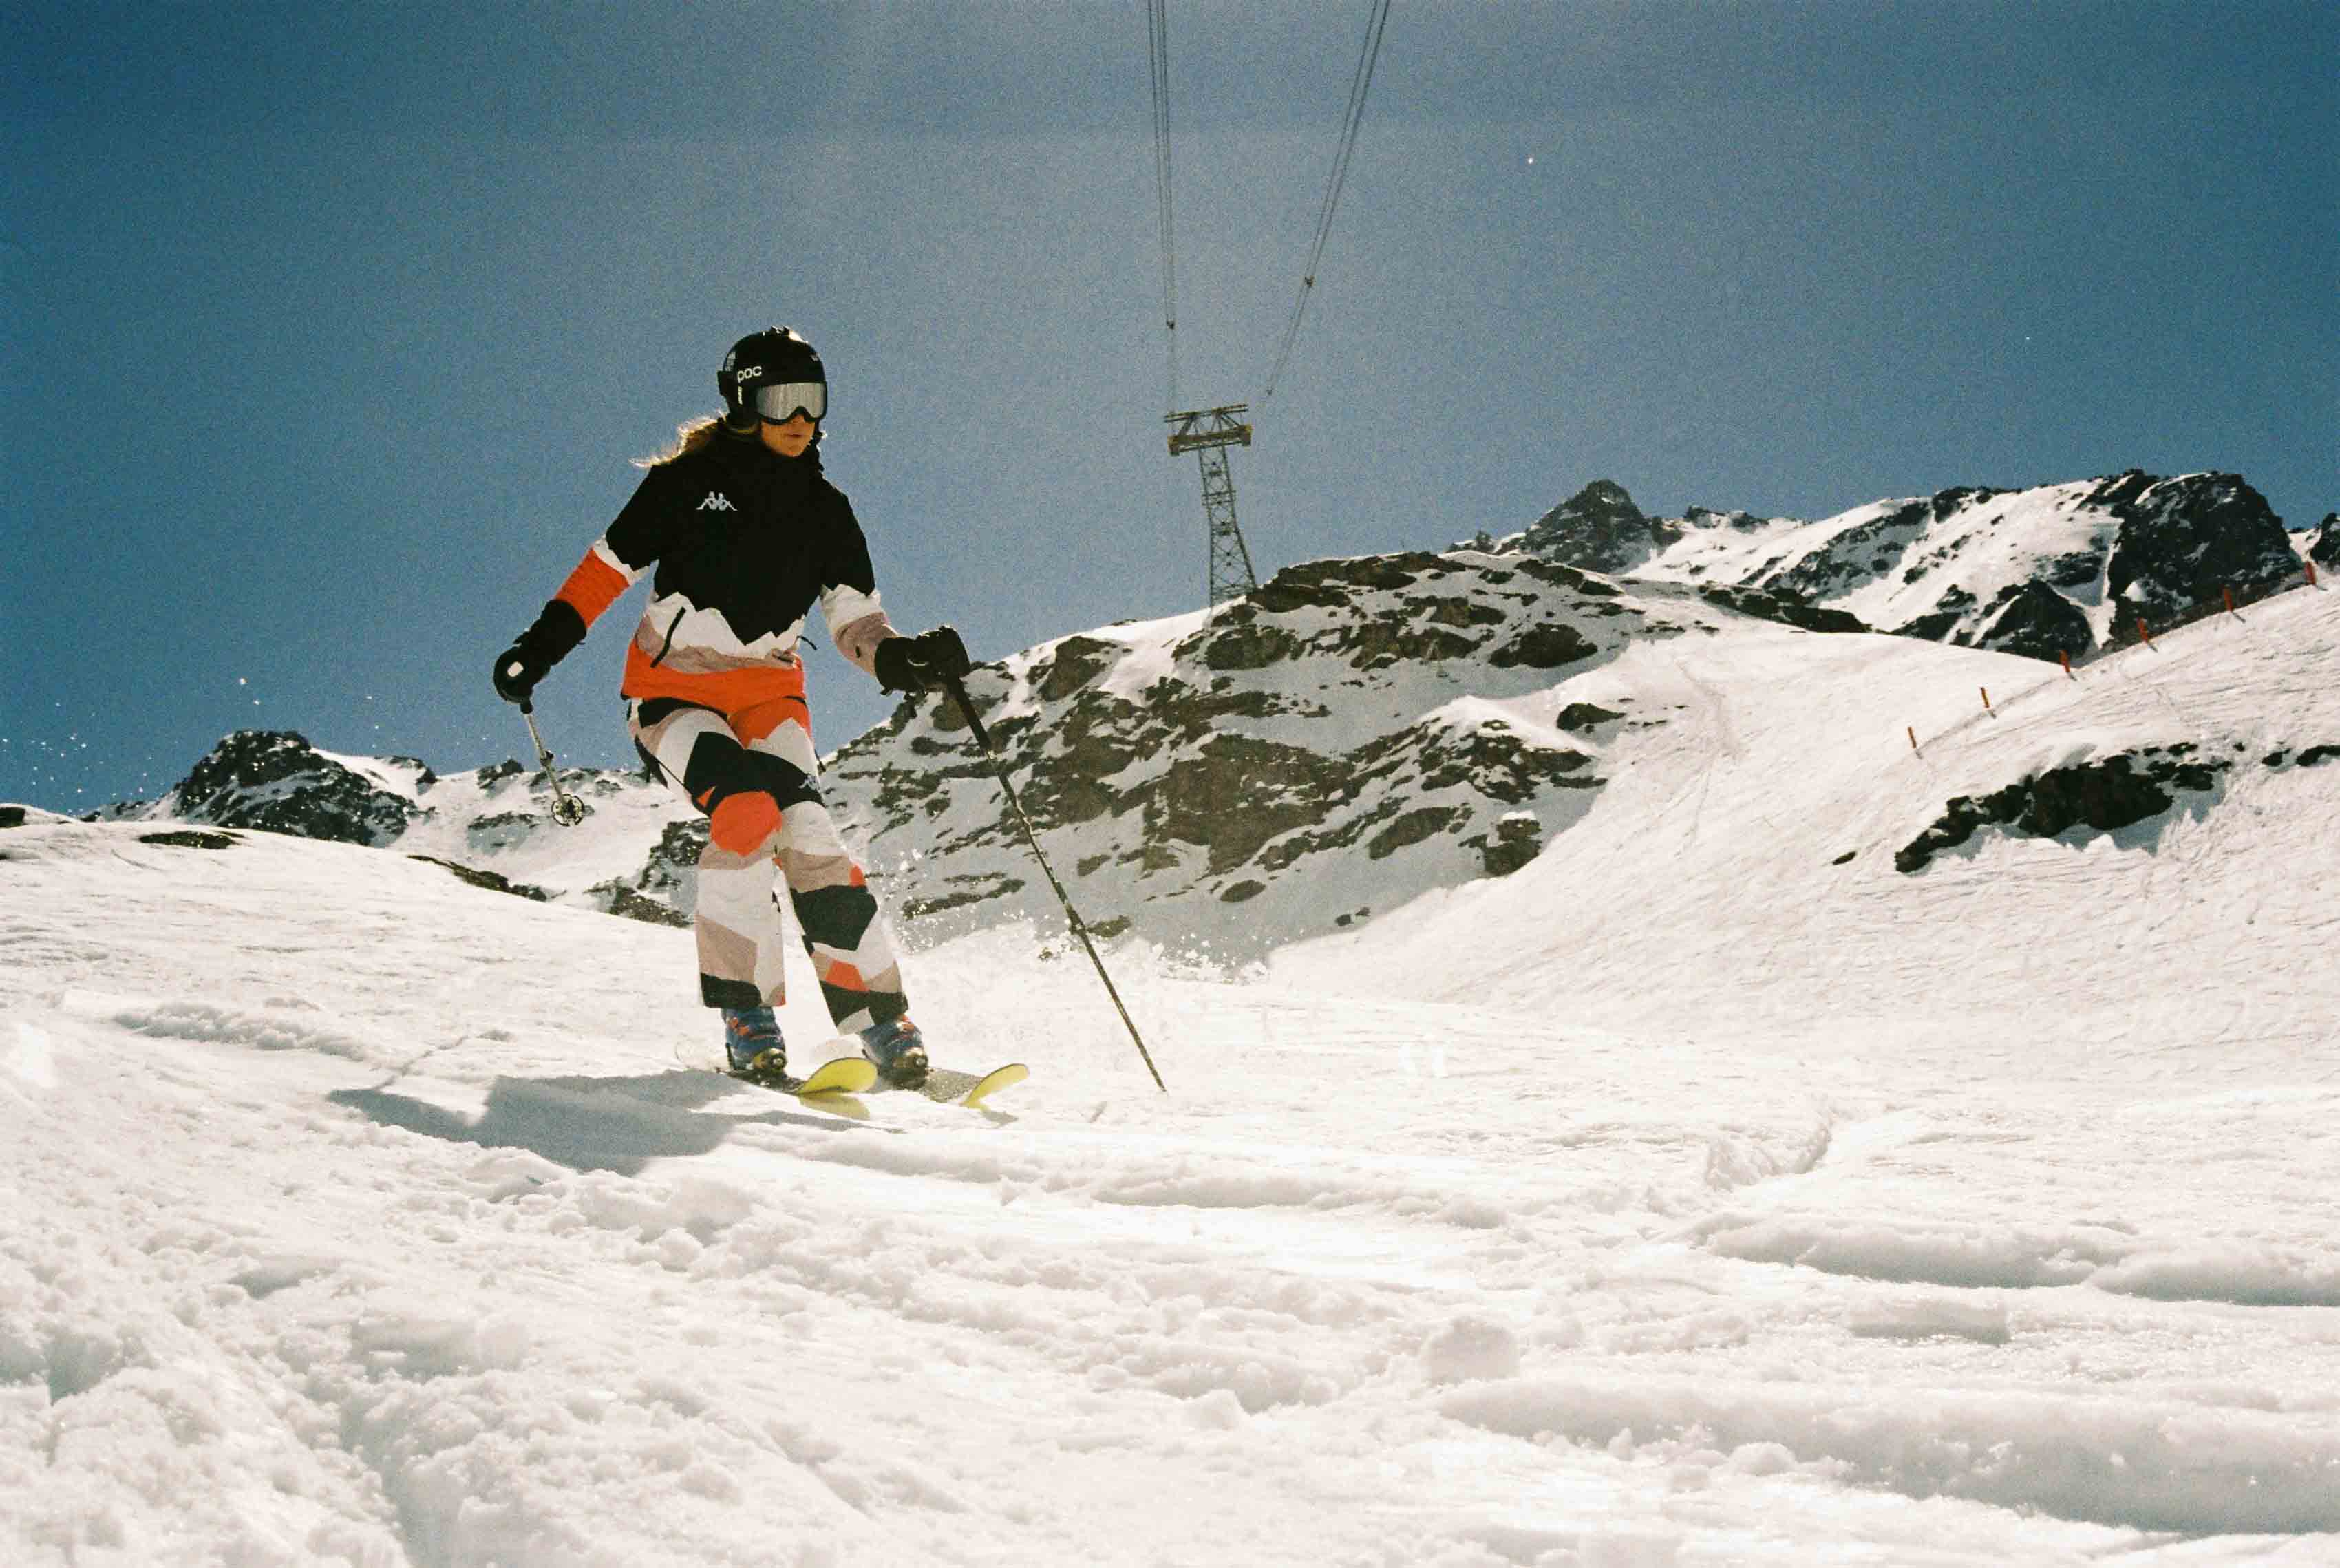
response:
{"label": "skier's dark shadow cast on the snow beside the skis", "polygon": [[742,1126],[889,1130],[814,1112],[768,1109],[739,1116],[700,1109],[737,1091],[721,1072],[690,1070],[632,1079],[496,1079],[477,1121],[386,1088],[337,1088],[325,1098],[386,1128],[482,1149],[529,1149],[555,1165],[618,1175],[641,1175],[651,1161],[707,1154]]}

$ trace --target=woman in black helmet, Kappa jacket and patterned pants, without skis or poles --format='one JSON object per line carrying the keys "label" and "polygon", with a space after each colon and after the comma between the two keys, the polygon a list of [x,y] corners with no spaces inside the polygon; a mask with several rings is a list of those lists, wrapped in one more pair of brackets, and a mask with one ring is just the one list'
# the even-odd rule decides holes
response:
{"label": "woman in black helmet, Kappa jacket and patterned pants, without skis or poles", "polygon": [[732,344],[721,419],[686,424],[536,623],[496,658],[496,693],[531,690],[653,566],[625,651],[627,725],[644,761],[707,812],[697,913],[700,999],[723,1011],[732,1072],[793,1086],[782,1002],[775,864],[838,1032],[892,1084],[927,1077],[901,967],[861,866],[821,803],[796,644],[812,606],[828,641],[889,693],[969,672],[950,627],[903,637],[878,606],[868,543],[821,475],[828,374],[789,328]]}

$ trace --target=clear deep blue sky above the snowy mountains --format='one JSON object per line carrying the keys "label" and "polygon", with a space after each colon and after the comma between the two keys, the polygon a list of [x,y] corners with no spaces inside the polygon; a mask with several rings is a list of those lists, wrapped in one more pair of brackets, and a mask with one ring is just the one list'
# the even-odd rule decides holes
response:
{"label": "clear deep blue sky above the snowy mountains", "polygon": [[[1186,403],[1254,398],[1367,5],[1170,0]],[[487,667],[714,407],[833,374],[896,625],[1193,608],[1144,7],[0,14],[0,800],[232,728],[470,768]],[[2230,468],[2340,508],[2340,7],[1397,0],[1310,325],[1236,454],[1261,576],[1594,477],[1821,517]],[[632,763],[636,597],[548,735]],[[835,747],[889,711],[831,651]]]}

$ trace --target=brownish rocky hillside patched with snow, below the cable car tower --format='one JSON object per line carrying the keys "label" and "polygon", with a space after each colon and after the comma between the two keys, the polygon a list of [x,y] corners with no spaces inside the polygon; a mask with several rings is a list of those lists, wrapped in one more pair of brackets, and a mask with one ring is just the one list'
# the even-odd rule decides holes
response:
{"label": "brownish rocky hillside patched with snow, below the cable car tower", "polygon": [[[1378,555],[1041,644],[969,693],[1090,924],[1250,960],[1568,833],[1617,737],[1671,714],[1563,688],[1643,646],[1771,637],[1809,634],[1533,555]],[[948,700],[838,751],[824,786],[915,929],[1060,920]]]}

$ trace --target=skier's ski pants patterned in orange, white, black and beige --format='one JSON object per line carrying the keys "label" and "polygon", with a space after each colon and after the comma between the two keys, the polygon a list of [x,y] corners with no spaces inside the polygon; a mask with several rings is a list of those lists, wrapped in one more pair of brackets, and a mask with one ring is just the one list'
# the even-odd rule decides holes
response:
{"label": "skier's ski pants patterned in orange, white, black and beige", "polygon": [[803,697],[735,714],[672,697],[634,700],[627,723],[644,758],[709,814],[693,917],[700,999],[707,1006],[779,1006],[777,868],[838,1032],[901,1018],[908,1002],[894,941],[821,803]]}

